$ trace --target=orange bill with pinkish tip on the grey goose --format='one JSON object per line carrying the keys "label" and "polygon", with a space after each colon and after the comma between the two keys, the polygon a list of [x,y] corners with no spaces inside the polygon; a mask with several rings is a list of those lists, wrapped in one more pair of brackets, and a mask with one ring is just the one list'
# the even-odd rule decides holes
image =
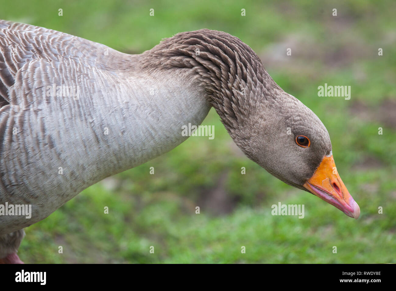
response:
{"label": "orange bill with pinkish tip on the grey goose", "polygon": [[349,217],[358,219],[360,215],[359,205],[350,196],[338,175],[332,155],[323,158],[318,169],[307,180],[304,187],[312,194],[334,205]]}

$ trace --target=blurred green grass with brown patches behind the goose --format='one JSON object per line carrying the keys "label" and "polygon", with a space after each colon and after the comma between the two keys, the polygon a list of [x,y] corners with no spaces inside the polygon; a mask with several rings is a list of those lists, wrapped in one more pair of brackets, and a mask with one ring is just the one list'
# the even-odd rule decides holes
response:
{"label": "blurred green grass with brown patches behind the goose", "polygon": [[[154,17],[149,16],[150,8]],[[337,17],[331,16],[333,8]],[[272,177],[242,155],[212,109],[203,124],[215,126],[215,139],[190,137],[164,156],[89,187],[25,229],[21,259],[396,263],[395,8],[394,1],[368,0],[331,5],[307,0],[0,0],[2,19],[132,53],[188,30],[209,28],[238,36],[261,57],[272,78],[325,124],[337,169],[361,209],[355,221]],[[289,47],[292,56],[286,57]],[[383,48],[381,57],[378,48]],[[279,54],[282,57],[276,57]],[[318,97],[317,87],[324,83],[350,85],[351,99]],[[378,135],[378,127],[383,127],[383,135]],[[246,167],[246,175],[240,174],[241,167]],[[271,205],[278,202],[304,204],[305,218],[272,216]],[[105,206],[109,214],[103,214]],[[378,214],[379,206],[383,214]],[[59,245],[63,254],[58,253]]]}

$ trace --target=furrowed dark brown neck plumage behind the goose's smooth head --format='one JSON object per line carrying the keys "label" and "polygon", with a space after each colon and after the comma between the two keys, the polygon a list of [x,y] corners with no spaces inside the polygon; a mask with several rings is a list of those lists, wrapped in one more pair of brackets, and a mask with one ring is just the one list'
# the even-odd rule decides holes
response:
{"label": "furrowed dark brown neck plumage behind the goose's smooth head", "polygon": [[192,69],[228,132],[243,126],[261,99],[275,95],[271,91],[283,91],[249,46],[217,30],[176,34],[143,53],[141,63],[152,70]]}

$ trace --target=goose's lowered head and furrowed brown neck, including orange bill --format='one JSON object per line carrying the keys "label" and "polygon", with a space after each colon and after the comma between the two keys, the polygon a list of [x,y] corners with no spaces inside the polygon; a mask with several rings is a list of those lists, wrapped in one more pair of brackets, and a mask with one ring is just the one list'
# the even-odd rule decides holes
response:
{"label": "goose's lowered head and furrowed brown neck, including orange bill", "polygon": [[[198,53],[197,53],[198,52]],[[318,116],[272,80],[256,53],[225,32],[179,33],[143,53],[152,68],[190,68],[246,156],[281,181],[358,219]]]}

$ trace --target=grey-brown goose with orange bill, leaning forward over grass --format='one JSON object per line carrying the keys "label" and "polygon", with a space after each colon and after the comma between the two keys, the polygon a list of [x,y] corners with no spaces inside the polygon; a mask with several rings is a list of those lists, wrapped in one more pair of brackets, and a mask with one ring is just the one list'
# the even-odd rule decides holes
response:
{"label": "grey-brown goose with orange bill, leaning forward over grass", "polygon": [[[359,217],[326,127],[239,38],[200,29],[130,55],[1,20],[0,262],[22,263],[23,228],[175,148],[188,137],[183,126],[201,124],[211,107],[250,160]],[[30,217],[18,205],[31,207]]]}

